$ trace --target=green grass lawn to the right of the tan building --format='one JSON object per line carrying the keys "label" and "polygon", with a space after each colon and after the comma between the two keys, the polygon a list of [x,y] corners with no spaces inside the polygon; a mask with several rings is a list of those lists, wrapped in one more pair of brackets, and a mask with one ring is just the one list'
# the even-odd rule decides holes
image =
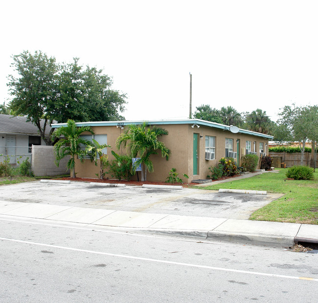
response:
{"label": "green grass lawn to the right of the tan building", "polygon": [[[287,169],[242,180],[225,182],[201,189],[220,188],[266,190],[284,196],[255,211],[250,220],[290,222],[318,225],[318,170],[314,180],[287,180]],[[199,188],[199,187],[198,187]]]}

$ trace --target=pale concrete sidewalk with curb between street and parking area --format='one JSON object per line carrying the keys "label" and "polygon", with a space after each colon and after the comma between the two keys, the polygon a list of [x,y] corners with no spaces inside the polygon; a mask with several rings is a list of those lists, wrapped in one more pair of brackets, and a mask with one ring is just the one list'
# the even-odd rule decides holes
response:
{"label": "pale concrete sidewalk with curb between street and parking area", "polygon": [[318,243],[318,225],[140,213],[25,202],[0,201],[0,219],[76,225],[95,230],[120,227],[130,231],[276,247],[289,247],[298,242]]}

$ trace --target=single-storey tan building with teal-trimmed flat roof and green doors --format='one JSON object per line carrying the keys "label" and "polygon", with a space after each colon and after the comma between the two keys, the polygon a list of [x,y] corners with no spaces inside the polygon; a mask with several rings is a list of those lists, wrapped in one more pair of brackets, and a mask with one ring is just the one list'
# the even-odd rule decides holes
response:
{"label": "single-storey tan building with teal-trimmed flat roof and green doors", "polygon": [[[124,154],[125,150],[116,149],[116,139],[124,131],[124,126],[141,123],[140,121],[106,121],[76,123],[76,125],[91,126],[95,133],[93,136],[99,144],[107,143],[115,152]],[[189,179],[184,180],[187,182],[206,178],[208,167],[217,165],[222,157],[233,157],[239,163],[243,154],[267,155],[268,140],[273,140],[273,136],[199,119],[158,120],[148,121],[148,124],[162,127],[169,132],[159,140],[171,150],[169,161],[162,158],[160,152],[151,156],[154,172],[147,173],[149,181],[164,181],[171,168],[176,168],[177,173],[188,175]],[[52,127],[65,125],[52,124]],[[83,135],[87,139],[92,137],[89,133],[83,133]],[[108,151],[108,154],[109,160],[114,159],[111,152]],[[96,177],[96,173],[98,173],[98,167],[90,159],[86,159],[84,163],[77,160],[77,177]],[[106,177],[110,176],[106,175]]]}

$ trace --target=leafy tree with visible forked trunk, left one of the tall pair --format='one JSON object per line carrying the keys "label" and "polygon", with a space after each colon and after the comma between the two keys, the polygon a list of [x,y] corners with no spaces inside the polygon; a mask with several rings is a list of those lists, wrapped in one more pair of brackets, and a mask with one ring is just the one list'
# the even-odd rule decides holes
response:
{"label": "leafy tree with visible forked trunk, left one of the tall pair", "polygon": [[[54,57],[48,57],[42,51],[35,51],[34,54],[23,51],[12,58],[11,66],[18,76],[8,76],[7,85],[14,97],[10,109],[16,115],[26,116],[27,121],[38,127],[46,145],[52,145],[50,135],[53,129],[48,137],[45,137],[45,129],[54,119],[47,107],[56,101],[59,66]],[[41,124],[41,119],[44,124]]]}

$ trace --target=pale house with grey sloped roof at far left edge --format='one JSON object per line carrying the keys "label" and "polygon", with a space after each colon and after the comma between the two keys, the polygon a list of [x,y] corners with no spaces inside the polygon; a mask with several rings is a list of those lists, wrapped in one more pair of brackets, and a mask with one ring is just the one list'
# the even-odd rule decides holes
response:
{"label": "pale house with grey sloped roof at far left edge", "polygon": [[[50,129],[50,126],[46,126],[45,134]],[[31,156],[32,145],[45,145],[38,127],[26,122],[26,117],[0,114],[0,154],[10,155],[10,163],[14,164],[20,156],[23,159]]]}

